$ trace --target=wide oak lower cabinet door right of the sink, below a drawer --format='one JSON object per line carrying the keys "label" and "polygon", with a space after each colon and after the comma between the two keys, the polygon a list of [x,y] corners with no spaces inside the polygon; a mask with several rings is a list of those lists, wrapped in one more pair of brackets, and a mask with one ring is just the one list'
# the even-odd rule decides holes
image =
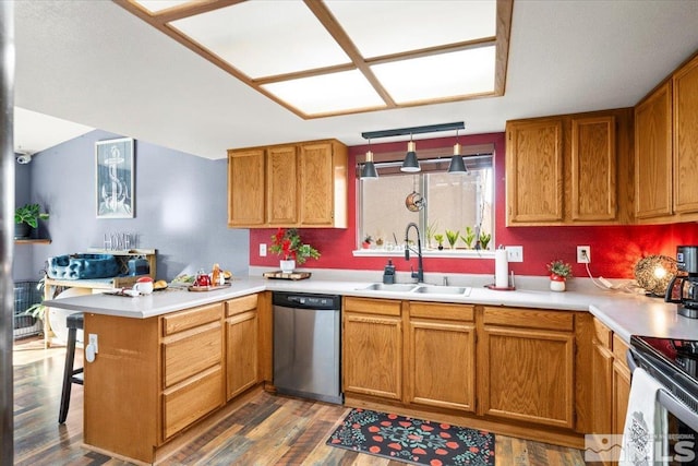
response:
{"label": "wide oak lower cabinet door right of the sink, below a drawer", "polygon": [[479,414],[571,428],[574,334],[483,330]]}

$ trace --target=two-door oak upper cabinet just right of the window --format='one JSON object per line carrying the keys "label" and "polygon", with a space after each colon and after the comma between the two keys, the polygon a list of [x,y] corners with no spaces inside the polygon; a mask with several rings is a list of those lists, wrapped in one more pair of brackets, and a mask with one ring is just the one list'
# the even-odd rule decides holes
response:
{"label": "two-door oak upper cabinet just right of the window", "polygon": [[631,222],[631,108],[507,121],[506,128],[508,226]]}

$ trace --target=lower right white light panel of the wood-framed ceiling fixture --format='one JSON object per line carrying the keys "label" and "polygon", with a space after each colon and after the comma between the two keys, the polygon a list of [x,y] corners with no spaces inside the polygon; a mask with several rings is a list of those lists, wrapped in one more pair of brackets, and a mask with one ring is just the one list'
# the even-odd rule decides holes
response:
{"label": "lower right white light panel of the wood-framed ceiling fixture", "polygon": [[371,67],[398,104],[494,92],[495,47],[440,53]]}

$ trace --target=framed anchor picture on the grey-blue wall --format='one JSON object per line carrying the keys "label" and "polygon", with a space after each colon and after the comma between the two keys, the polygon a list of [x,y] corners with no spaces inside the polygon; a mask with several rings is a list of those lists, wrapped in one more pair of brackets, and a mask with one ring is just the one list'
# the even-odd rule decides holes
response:
{"label": "framed anchor picture on the grey-blue wall", "polygon": [[97,218],[133,218],[133,139],[97,141]]}

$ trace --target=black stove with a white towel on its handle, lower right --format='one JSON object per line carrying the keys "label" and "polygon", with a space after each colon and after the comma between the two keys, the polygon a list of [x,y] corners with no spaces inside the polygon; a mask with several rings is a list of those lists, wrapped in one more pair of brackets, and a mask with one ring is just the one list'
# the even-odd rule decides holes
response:
{"label": "black stove with a white towel on its handle, lower right", "polygon": [[633,335],[627,360],[666,389],[657,401],[666,408],[670,453],[684,452],[667,464],[698,465],[698,340]]}

